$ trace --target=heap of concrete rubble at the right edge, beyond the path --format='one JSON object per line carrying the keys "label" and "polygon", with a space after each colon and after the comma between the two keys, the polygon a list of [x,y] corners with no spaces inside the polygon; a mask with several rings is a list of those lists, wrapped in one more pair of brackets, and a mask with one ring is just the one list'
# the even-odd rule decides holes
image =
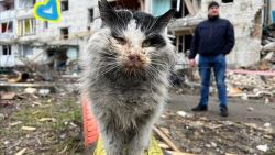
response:
{"label": "heap of concrete rubble at the right edge, beyond the path", "polygon": [[[261,60],[242,67],[248,74],[228,74],[229,97],[263,98],[266,103],[275,101],[275,25],[265,26]],[[250,71],[250,73],[249,73]]]}

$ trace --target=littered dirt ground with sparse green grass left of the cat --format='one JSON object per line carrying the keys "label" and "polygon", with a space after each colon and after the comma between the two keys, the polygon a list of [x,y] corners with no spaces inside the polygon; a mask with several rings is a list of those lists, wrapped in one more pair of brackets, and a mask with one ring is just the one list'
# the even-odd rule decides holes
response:
{"label": "littered dirt ground with sparse green grass left of the cat", "polygon": [[81,111],[77,93],[18,96],[0,100],[0,155],[81,154]]}

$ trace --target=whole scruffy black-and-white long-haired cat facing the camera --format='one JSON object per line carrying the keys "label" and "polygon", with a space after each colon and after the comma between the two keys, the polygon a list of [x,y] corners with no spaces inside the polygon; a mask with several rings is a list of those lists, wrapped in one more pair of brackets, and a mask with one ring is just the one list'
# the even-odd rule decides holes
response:
{"label": "whole scruffy black-and-white long-haired cat facing the camera", "polygon": [[[174,11],[154,18],[98,2],[103,27],[81,56],[88,92],[107,155],[142,155],[168,98],[174,46],[164,30]],[[127,148],[127,153],[124,150]]]}

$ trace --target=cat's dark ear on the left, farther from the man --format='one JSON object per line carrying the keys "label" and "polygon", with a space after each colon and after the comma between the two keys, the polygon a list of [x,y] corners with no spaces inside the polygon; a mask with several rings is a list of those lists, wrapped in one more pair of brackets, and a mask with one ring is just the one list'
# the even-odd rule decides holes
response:
{"label": "cat's dark ear on the left, farther from the man", "polygon": [[116,10],[108,3],[107,0],[99,0],[98,8],[99,8],[102,22],[107,26],[111,26],[116,22],[116,19],[117,19]]}

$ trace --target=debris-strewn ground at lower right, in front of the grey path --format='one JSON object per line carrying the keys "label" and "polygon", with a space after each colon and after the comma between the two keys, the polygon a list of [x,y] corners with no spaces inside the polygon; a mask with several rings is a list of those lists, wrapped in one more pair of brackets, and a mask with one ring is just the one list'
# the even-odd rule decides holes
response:
{"label": "debris-strewn ground at lower right, in front of the grey path", "polygon": [[209,120],[184,111],[166,112],[160,129],[182,151],[198,155],[275,154],[275,133],[271,126]]}

